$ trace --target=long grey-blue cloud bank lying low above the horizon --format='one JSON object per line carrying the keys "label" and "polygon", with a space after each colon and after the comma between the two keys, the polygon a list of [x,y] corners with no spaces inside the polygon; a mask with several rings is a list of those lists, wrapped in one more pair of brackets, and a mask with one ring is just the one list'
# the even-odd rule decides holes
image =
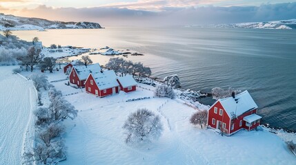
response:
{"label": "long grey-blue cloud bank lying low above the horizon", "polygon": [[[143,1],[144,2],[144,1]],[[161,1],[159,1],[161,3]],[[190,3],[190,1],[188,1]],[[40,5],[34,9],[13,12],[22,17],[41,17],[59,21],[95,21],[103,26],[204,25],[295,19],[296,3],[263,4],[230,7],[166,7],[159,12],[128,8],[51,8]]]}

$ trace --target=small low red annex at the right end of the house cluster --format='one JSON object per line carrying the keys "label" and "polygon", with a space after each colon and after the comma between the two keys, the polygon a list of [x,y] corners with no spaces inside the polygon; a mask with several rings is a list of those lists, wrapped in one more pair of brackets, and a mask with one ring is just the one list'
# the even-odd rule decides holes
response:
{"label": "small low red annex at the right end of the house cluster", "polygon": [[120,90],[125,92],[135,91],[137,88],[137,82],[132,76],[118,77],[117,81],[120,85]]}

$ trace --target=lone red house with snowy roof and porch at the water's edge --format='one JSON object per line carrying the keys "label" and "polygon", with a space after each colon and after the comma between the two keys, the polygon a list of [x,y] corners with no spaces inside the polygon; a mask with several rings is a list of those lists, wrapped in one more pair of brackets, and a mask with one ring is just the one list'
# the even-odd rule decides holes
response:
{"label": "lone red house with snowy roof and porch at the water's edge", "polygon": [[248,131],[260,124],[258,106],[248,91],[232,97],[217,100],[208,109],[208,126],[219,129],[226,135],[233,135],[241,129]]}

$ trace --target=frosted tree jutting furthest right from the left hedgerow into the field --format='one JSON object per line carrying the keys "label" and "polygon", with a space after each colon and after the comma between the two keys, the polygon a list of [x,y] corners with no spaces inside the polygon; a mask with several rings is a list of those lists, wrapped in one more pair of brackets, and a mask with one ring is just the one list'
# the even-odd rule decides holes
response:
{"label": "frosted tree jutting furthest right from the left hedgerow into the field", "polygon": [[52,119],[56,121],[61,121],[66,118],[73,120],[76,118],[78,112],[70,102],[61,96],[52,98],[48,109],[50,110]]}

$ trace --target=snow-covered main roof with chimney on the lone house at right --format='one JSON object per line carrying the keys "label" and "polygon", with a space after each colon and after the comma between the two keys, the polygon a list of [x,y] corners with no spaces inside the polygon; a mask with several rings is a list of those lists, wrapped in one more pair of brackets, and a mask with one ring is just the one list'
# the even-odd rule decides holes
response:
{"label": "snow-covered main roof with chimney on the lone house at right", "polygon": [[258,108],[248,91],[243,91],[241,94],[237,94],[235,98],[229,97],[219,99],[219,102],[222,104],[230,117],[232,113],[239,116],[246,111]]}

